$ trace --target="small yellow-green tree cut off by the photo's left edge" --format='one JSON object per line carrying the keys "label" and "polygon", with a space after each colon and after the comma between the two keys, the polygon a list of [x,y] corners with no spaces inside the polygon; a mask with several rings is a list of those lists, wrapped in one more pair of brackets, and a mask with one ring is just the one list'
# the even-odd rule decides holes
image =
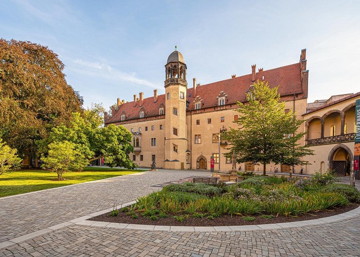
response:
{"label": "small yellow-green tree cut off by the photo's left edge", "polygon": [[10,148],[0,139],[0,175],[20,169],[22,160],[16,152],[16,149]]}

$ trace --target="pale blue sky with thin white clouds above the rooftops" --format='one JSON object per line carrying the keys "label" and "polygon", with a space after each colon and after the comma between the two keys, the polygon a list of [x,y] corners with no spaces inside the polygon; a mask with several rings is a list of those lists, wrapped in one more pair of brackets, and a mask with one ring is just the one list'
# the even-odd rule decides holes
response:
{"label": "pale blue sky with thin white clouds above the rooftops", "polygon": [[[164,94],[175,44],[187,80],[207,84],[297,63],[307,49],[308,102],[356,93],[360,1],[0,0],[0,38],[48,46],[84,106]],[[356,78],[356,77],[355,77]]]}

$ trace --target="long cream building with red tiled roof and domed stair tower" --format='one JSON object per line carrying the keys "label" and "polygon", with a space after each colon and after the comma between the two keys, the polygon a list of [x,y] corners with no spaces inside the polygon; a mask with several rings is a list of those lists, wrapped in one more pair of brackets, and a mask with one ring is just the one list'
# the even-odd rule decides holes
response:
{"label": "long cream building with red tiled roof and domed stair tower", "polygon": [[[235,126],[233,121],[239,115],[235,111],[236,101],[245,102],[246,92],[257,80],[266,81],[271,87],[279,85],[280,101],[285,102],[284,111],[293,109],[298,119],[308,119],[331,104],[327,101],[307,103],[309,70],[306,49],[301,50],[300,60],[294,64],[269,70],[259,68],[258,71],[256,65],[252,65],[248,75],[232,75],[229,79],[206,85],[196,83],[194,78],[192,87],[188,87],[186,70],[183,55],[173,51],[165,65],[165,94],[158,95],[154,90],[152,97],[144,98],[140,92],[139,97],[134,95],[131,102],[118,99],[111,116],[105,113],[105,125],[121,124],[133,133],[134,153],[130,158],[140,167],[150,167],[155,160],[157,167],[165,169],[210,169],[210,157],[213,156],[215,167],[220,163],[221,170],[231,169],[231,159],[222,155],[227,142],[221,137],[219,142],[219,134]],[[300,130],[312,129],[312,124],[307,124]],[[302,143],[313,143],[309,141],[313,137],[304,138]],[[316,158],[313,156],[310,160]],[[251,163],[241,163],[240,167],[242,170],[262,171],[261,166]],[[291,170],[289,166],[273,164],[268,166],[268,171],[275,168],[282,172]],[[300,168],[295,169],[298,172]],[[314,171],[313,167],[305,168],[309,173]]]}

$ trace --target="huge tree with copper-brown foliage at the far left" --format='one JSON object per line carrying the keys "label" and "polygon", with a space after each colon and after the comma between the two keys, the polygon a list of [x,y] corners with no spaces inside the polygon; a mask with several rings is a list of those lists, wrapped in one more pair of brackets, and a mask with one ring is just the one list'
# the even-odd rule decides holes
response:
{"label": "huge tree with copper-brown foliage at the far left", "polygon": [[82,98],[63,69],[46,46],[0,39],[0,137],[21,156],[35,156],[35,141],[81,111]]}

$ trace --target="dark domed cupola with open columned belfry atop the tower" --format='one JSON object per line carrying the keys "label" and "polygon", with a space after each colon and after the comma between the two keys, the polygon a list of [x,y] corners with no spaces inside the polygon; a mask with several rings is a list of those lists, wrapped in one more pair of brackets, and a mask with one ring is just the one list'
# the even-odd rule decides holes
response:
{"label": "dark domed cupola with open columned belfry atop the tower", "polygon": [[187,86],[186,82],[186,64],[183,54],[177,51],[170,53],[167,64],[165,65],[165,87],[170,84],[182,84]]}

